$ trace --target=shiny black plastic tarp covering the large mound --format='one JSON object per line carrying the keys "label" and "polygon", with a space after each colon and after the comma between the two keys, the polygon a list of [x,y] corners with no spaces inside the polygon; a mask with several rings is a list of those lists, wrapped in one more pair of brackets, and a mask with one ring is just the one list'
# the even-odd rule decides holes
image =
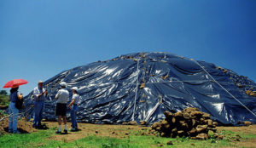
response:
{"label": "shiny black plastic tarp covering the large mound", "polygon": [[[256,83],[234,71],[175,54],[125,54],[61,72],[44,83],[49,92],[44,106],[48,120],[56,119],[55,94],[61,82],[67,83],[70,98],[70,88],[79,88],[79,122],[152,123],[165,118],[165,111],[187,107],[197,107],[222,124],[256,122],[256,98],[246,94]],[[31,93],[25,98],[26,109],[32,104]]]}

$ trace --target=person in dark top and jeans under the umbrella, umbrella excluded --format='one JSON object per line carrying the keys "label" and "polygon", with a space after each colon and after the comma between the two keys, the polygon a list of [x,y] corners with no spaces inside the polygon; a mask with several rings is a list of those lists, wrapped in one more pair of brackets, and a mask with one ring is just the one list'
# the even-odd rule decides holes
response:
{"label": "person in dark top and jeans under the umbrella, umbrella excluded", "polygon": [[9,94],[9,133],[14,134],[20,134],[17,130],[19,109],[15,106],[15,103],[17,100],[22,100],[23,95],[18,90],[19,86],[11,88]]}

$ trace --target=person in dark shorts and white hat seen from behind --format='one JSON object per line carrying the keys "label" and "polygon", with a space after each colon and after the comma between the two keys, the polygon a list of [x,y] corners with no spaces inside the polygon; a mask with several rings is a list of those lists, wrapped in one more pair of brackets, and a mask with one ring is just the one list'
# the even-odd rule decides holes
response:
{"label": "person in dark shorts and white hat seen from behind", "polygon": [[55,100],[57,100],[55,115],[58,117],[59,129],[55,132],[56,134],[61,134],[61,118],[64,122],[64,134],[67,134],[67,101],[69,98],[69,93],[66,89],[67,84],[65,82],[60,83],[61,89],[55,95]]}

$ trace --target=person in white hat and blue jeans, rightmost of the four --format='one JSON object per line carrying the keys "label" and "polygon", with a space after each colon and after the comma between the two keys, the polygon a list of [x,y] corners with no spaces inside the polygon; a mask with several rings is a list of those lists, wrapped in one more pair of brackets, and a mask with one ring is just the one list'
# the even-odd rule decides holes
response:
{"label": "person in white hat and blue jeans, rightmost of the four", "polygon": [[72,100],[70,102],[70,104],[68,105],[69,109],[71,109],[70,111],[70,116],[71,116],[71,122],[72,122],[72,128],[71,131],[78,131],[78,122],[76,119],[76,113],[79,109],[79,94],[78,94],[78,90],[79,88],[77,87],[73,87],[71,88],[73,96],[72,96]]}

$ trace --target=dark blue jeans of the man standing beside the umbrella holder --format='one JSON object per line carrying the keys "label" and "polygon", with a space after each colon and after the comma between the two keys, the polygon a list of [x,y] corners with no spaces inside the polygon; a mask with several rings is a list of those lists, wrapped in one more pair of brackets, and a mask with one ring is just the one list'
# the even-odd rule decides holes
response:
{"label": "dark blue jeans of the man standing beside the umbrella holder", "polygon": [[34,118],[33,118],[33,127],[41,125],[41,120],[43,119],[43,110],[44,110],[44,101],[38,100],[34,103]]}

